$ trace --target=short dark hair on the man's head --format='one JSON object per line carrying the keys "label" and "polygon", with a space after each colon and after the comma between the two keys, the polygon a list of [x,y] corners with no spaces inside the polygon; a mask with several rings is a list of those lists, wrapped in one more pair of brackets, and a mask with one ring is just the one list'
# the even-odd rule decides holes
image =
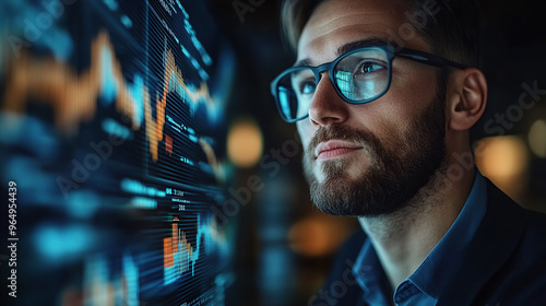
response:
{"label": "short dark hair on the man's head", "polygon": [[[317,7],[335,0],[284,0],[281,23],[286,43],[297,50],[299,36]],[[468,67],[479,67],[479,10],[473,0],[406,0],[423,20],[410,19],[432,52]],[[406,15],[406,16],[407,16]],[[395,43],[395,42],[393,42]]]}

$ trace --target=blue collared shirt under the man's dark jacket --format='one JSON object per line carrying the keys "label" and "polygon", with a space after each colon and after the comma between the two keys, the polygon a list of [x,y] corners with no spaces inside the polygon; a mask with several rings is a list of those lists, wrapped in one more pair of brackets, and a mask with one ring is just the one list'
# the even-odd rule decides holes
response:
{"label": "blue collared shirt under the man's dark jacket", "polygon": [[[476,170],[471,193],[448,233],[440,239],[415,272],[394,291],[384,274],[370,240],[364,244],[353,274],[369,305],[436,305],[450,278],[461,268],[461,255],[484,219],[487,205],[485,178]],[[390,298],[392,296],[392,298]]]}

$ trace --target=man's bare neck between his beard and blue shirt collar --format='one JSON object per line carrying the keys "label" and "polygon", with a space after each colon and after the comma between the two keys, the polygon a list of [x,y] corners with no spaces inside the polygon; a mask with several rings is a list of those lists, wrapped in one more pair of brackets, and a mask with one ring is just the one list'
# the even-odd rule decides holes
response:
{"label": "man's bare neck between his beard and blue shirt collar", "polygon": [[459,180],[446,180],[446,174],[437,172],[400,211],[359,217],[392,289],[417,270],[448,232],[470,195],[474,175],[472,168]]}

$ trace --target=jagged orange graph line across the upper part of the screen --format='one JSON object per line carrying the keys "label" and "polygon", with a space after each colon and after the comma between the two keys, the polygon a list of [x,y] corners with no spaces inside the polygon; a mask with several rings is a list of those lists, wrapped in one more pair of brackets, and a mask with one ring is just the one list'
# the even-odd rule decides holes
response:
{"label": "jagged orange graph line across the upper part of the screen", "polygon": [[[110,62],[102,62],[103,51],[111,55]],[[67,63],[54,58],[34,59],[27,54],[22,54],[7,72],[3,108],[5,111],[24,114],[27,103],[31,98],[35,98],[37,103],[50,105],[55,110],[56,126],[66,134],[73,136],[78,132],[80,122],[90,121],[95,117],[97,97],[103,91],[102,67],[104,64],[110,67],[118,91],[116,109],[128,118],[133,118],[139,106],[130,94],[122,75],[121,64],[116,58],[114,46],[106,32],[100,32],[92,42],[90,68],[80,74]],[[150,141],[150,153],[154,162],[158,160],[158,142],[163,140],[165,108],[171,80],[183,89],[192,103],[197,104],[202,99],[206,107],[213,107],[214,103],[205,82],[202,82],[198,90],[191,90],[183,83],[182,72],[176,66],[173,52],[167,50],[163,93],[161,97],[156,95],[156,119],[152,116],[149,89],[143,86],[142,93],[145,134]],[[132,129],[139,128],[140,122],[132,120]]]}

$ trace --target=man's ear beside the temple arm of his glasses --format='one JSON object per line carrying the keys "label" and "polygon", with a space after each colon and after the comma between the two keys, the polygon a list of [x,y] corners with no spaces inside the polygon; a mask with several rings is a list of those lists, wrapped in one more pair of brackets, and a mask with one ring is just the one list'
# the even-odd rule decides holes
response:
{"label": "man's ear beside the temple arm of his glasses", "polygon": [[476,68],[453,71],[448,81],[448,129],[467,130],[482,117],[487,103],[487,82]]}

